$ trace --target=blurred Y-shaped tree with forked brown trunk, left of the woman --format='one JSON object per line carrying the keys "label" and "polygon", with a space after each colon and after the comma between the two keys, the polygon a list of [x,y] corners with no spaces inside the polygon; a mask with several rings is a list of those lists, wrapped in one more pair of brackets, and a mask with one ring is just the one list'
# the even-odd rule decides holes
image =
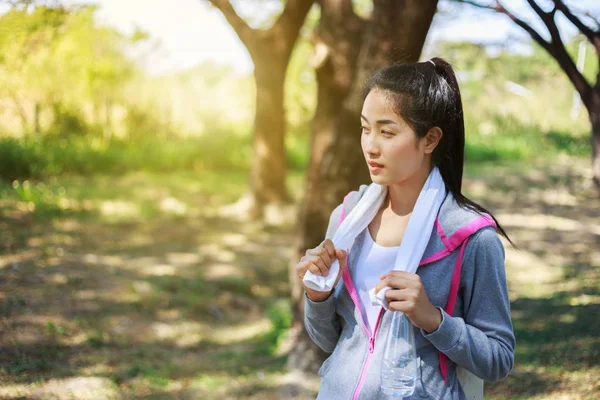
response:
{"label": "blurred Y-shaped tree with forked brown trunk, left of the woman", "polygon": [[228,0],[209,0],[250,53],[256,81],[256,114],[250,177],[250,212],[262,217],[270,204],[289,202],[285,185],[284,82],[300,28],[314,0],[288,0],[268,29],[251,28]]}

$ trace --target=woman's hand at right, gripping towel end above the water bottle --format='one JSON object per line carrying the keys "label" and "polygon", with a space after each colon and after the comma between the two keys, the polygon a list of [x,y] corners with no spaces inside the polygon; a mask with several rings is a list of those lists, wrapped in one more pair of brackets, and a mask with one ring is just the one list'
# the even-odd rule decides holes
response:
{"label": "woman's hand at right, gripping towel end above the water bottle", "polygon": [[390,310],[402,311],[417,328],[431,333],[442,323],[442,314],[431,304],[421,283],[421,277],[404,271],[390,271],[379,277],[375,287],[378,293],[386,286],[391,287],[385,294]]}

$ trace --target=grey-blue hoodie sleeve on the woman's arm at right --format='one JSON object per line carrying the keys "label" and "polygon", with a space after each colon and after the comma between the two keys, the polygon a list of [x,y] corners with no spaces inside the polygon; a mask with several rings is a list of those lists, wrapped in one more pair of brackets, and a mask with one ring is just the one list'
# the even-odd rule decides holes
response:
{"label": "grey-blue hoodie sleeve on the woman's arm at right", "polygon": [[514,365],[515,336],[504,271],[504,247],[493,228],[476,233],[463,259],[463,318],[440,308],[442,323],[427,334],[448,358],[478,377],[496,382]]}

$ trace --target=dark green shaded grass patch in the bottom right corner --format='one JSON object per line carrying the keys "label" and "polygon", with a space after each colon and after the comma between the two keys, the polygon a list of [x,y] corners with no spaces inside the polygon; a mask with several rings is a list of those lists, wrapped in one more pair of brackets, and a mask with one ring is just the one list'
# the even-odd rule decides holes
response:
{"label": "dark green shaded grass patch in the bottom right corner", "polygon": [[547,299],[523,297],[513,301],[516,367],[504,381],[486,384],[486,395],[519,399],[547,394],[562,385],[561,371],[597,368],[600,304],[570,303],[599,295],[596,287],[583,292],[557,292]]}

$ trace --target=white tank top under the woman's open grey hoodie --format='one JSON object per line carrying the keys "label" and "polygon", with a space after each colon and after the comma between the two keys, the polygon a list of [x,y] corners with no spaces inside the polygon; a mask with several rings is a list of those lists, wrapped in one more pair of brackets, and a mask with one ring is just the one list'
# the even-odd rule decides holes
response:
{"label": "white tank top under the woman's open grey hoodie", "polygon": [[371,305],[369,290],[379,283],[379,275],[394,269],[396,255],[400,246],[385,247],[373,240],[369,228],[366,228],[365,240],[360,250],[356,268],[351,271],[352,281],[360,300],[363,321],[373,333],[381,306]]}

